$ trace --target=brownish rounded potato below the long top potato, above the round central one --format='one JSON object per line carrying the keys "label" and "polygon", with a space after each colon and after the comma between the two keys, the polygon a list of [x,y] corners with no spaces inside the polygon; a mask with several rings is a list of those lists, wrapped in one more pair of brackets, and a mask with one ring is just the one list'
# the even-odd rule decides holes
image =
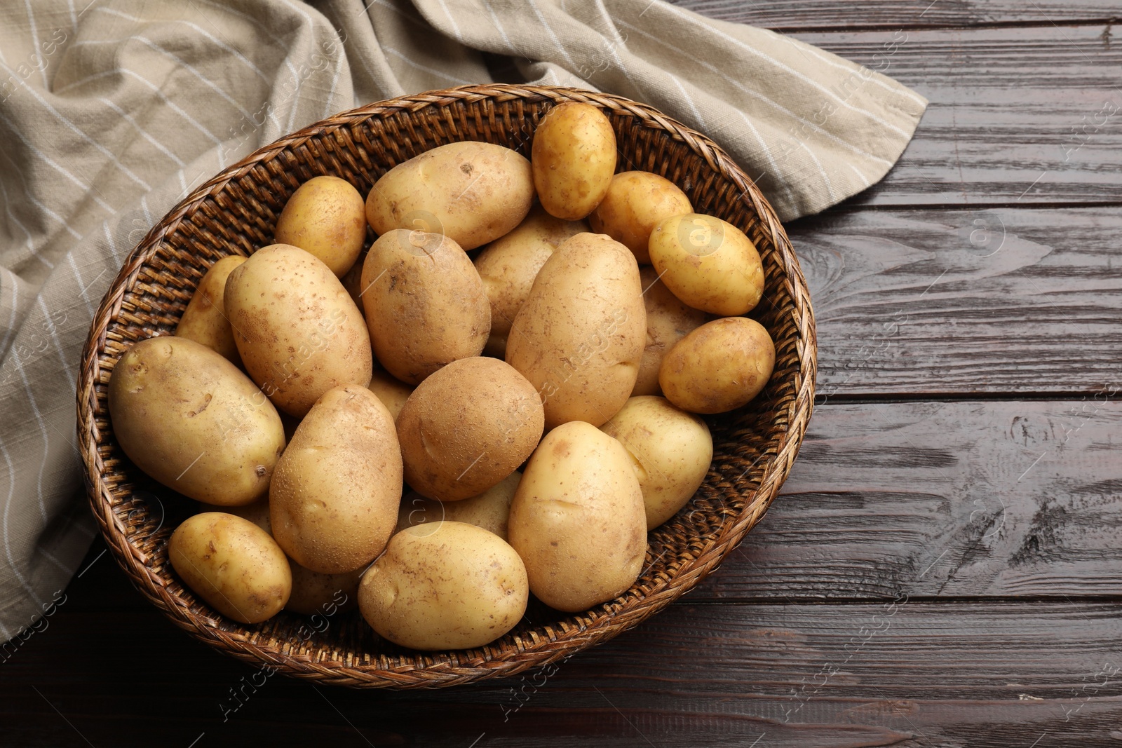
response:
{"label": "brownish rounded potato below the long top potato, above the round central one", "polygon": [[375,355],[402,381],[420,385],[442,366],[482,352],[490,302],[452,239],[405,230],[378,237],[362,288]]}

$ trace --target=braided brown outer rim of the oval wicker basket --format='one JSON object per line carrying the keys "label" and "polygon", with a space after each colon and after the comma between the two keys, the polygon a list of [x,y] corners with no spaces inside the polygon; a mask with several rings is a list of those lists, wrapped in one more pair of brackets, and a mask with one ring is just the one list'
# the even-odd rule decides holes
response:
{"label": "braided brown outer rim of the oval wicker basket", "polygon": [[[485,99],[496,102],[512,99],[534,102],[551,101],[553,103],[586,101],[608,109],[611,113],[637,117],[645,124],[662,129],[672,139],[684,142],[688,148],[705,159],[709,168],[730,179],[739,188],[739,198],[756,214],[762,230],[771,238],[775,248],[783,270],[783,285],[793,302],[790,314],[794,320],[794,329],[799,333],[795,341],[799,350],[799,369],[794,382],[795,396],[787,405],[785,412],[789,427],[780,437],[779,443],[774,445],[773,453],[769,450],[771,459],[764,468],[763,478],[754,500],[751,502],[745,500],[744,509],[739,515],[730,521],[725,521],[720,533],[709,538],[692,562],[678,567],[673,575],[664,575],[652,584],[643,593],[640,602],[626,611],[627,620],[623,627],[603,626],[600,625],[603,619],[598,619],[597,626],[594,627],[600,629],[599,631],[590,631],[583,626],[561,630],[559,627],[542,625],[536,630],[544,629],[545,634],[540,637],[532,636],[533,641],[528,646],[517,649],[482,647],[477,650],[466,650],[481,652],[482,656],[463,658],[458,657],[454,652],[444,653],[451,655],[452,662],[433,661],[430,655],[434,653],[417,653],[414,658],[414,661],[427,658],[432,661],[429,664],[413,664],[395,668],[380,668],[376,664],[358,666],[341,662],[316,662],[305,655],[286,654],[275,647],[250,641],[246,635],[220,627],[219,624],[222,620],[220,617],[208,618],[176,604],[164,590],[160,578],[147,566],[147,554],[129,543],[126,528],[112,510],[112,487],[103,480],[104,460],[99,451],[101,434],[96,424],[99,407],[96,387],[102,377],[100,357],[105,349],[108,327],[121,313],[125,294],[135,286],[137,276],[145,264],[159,249],[165,237],[175,232],[184,216],[195,211],[208,198],[219,195],[227,185],[245,176],[258,164],[272,161],[278,154],[296,148],[309,139],[322,137],[324,133],[342,127],[355,126],[364,120],[385,118],[396,112],[417,112],[431,107],[445,108],[457,102],[473,103]],[[113,557],[134,585],[177,626],[196,639],[231,656],[252,664],[267,663],[279,667],[282,672],[289,675],[351,686],[439,687],[495,675],[513,675],[528,667],[546,665],[570,656],[580,649],[599,644],[636,626],[692,589],[720,564],[724,556],[735,548],[747,532],[762,519],[790,471],[813,407],[816,352],[817,342],[810,296],[790,240],[774,211],[755,184],[709,138],[647,104],[614,94],[582,89],[480,84],[430,91],[340,112],[334,117],[279,138],[206,181],[151,228],[144,240],[129,253],[117,278],[105,293],[91,322],[90,334],[82,351],[77,388],[77,432],[83,460],[83,479],[90,506],[102,536]],[[614,604],[620,608],[620,611],[623,610],[624,606],[615,601],[605,603],[603,608],[606,611],[607,620],[610,620],[616,612],[620,612],[611,609]],[[460,659],[466,662],[457,664]]]}

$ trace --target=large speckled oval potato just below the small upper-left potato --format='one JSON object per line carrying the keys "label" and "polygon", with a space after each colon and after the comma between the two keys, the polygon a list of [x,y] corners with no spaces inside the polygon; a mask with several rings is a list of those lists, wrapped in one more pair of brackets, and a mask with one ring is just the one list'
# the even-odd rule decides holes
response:
{"label": "large speckled oval potato just below the small upper-left potato", "polygon": [[234,268],[226,310],[246,371],[289,415],[303,416],[332,387],[370,381],[362,313],[331,269],[298,247],[272,244]]}

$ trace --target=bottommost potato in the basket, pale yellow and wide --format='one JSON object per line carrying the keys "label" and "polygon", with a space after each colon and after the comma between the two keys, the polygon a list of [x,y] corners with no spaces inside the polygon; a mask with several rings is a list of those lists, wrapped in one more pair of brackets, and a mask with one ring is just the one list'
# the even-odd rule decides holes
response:
{"label": "bottommost potato in the basket, pale yellow and wide", "polygon": [[526,567],[481,527],[410,527],[362,576],[362,617],[381,637],[414,649],[466,649],[499,638],[526,612]]}

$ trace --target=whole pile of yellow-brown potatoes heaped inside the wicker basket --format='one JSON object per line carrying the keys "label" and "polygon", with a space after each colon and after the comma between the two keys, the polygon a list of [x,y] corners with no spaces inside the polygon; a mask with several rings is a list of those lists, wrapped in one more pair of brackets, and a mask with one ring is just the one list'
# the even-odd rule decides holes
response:
{"label": "whole pile of yellow-brown potatoes heaped inside the wicker basket", "polygon": [[696,414],[755,397],[775,350],[743,316],[752,241],[616,159],[563,103],[530,160],[451,144],[365,201],[315,177],[276,243],[215,262],[109,381],[125,453],[201,502],[168,544],[184,583],[243,624],[341,592],[430,650],[503,636],[531,593],[625,592],[709,469]]}

